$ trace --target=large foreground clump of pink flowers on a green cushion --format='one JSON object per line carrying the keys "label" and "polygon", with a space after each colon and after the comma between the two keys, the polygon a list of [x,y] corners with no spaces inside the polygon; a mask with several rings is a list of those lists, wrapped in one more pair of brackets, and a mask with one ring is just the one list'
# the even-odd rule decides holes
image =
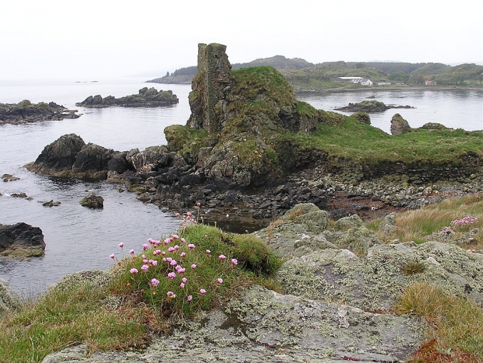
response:
{"label": "large foreground clump of pink flowers on a green cushion", "polygon": [[[190,213],[185,215],[184,220],[185,223],[193,223]],[[123,250],[124,243],[118,243],[118,247]],[[149,238],[147,243],[142,244],[140,255],[135,255],[134,249],[130,249],[129,254],[122,260],[114,254],[110,258],[117,261],[118,266],[125,263],[129,272],[126,285],[150,302],[160,304],[161,310],[163,304],[185,306],[187,302],[192,305],[212,299],[220,289],[229,285],[229,271],[238,265],[237,259],[228,254],[217,253],[218,258],[213,258],[210,250],[199,249],[199,246],[176,234],[160,240]],[[194,258],[192,254],[196,254]],[[203,268],[205,263],[219,264],[219,274],[209,279],[200,278],[199,274],[207,271]]]}

